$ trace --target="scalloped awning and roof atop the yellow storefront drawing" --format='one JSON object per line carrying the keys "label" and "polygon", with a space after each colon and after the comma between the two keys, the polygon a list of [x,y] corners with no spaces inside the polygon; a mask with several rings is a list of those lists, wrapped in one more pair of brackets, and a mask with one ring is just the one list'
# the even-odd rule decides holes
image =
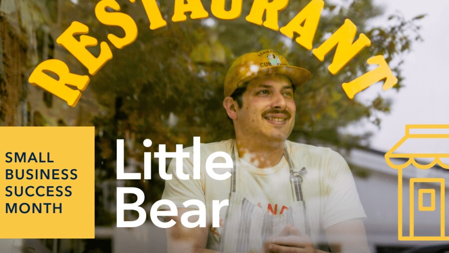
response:
{"label": "scalloped awning and roof atop the yellow storefront drawing", "polygon": [[[412,152],[398,152],[403,146],[414,148]],[[435,165],[449,169],[449,125],[406,125],[404,137],[385,154],[385,160],[393,169],[410,165],[419,169]]]}

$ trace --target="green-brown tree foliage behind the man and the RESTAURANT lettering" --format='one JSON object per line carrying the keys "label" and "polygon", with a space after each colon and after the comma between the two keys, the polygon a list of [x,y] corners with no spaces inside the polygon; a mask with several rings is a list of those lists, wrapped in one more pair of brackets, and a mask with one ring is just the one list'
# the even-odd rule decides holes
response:
{"label": "green-brown tree foliage behind the man and the RESTAURANT lettering", "polygon": [[[54,13],[54,2],[45,2]],[[76,20],[88,25],[89,35],[99,41],[108,41],[109,33],[119,37],[124,35],[121,28],[105,26],[96,19],[94,8],[97,0],[61,2],[59,18],[50,15],[47,21],[58,20],[55,30],[59,34]],[[304,67],[312,73],[311,79],[298,87],[295,94],[297,114],[291,138],[301,138],[306,142],[319,139],[343,147],[361,145],[370,133],[342,135],[340,130],[366,119],[379,126],[379,116],[389,112],[390,101],[382,95],[369,103],[358,101],[357,96],[350,100],[341,84],[367,72],[366,60],[381,54],[398,77],[399,83],[395,88],[400,89],[404,85],[402,55],[411,50],[413,42],[422,40],[420,26],[416,22],[425,16],[405,20],[396,13],[382,26],[371,26],[369,21],[382,13],[372,0],[353,0],[343,5],[326,3],[313,41],[314,47],[337,30],[345,18],[353,21],[358,28],[357,33],[365,33],[372,43],[337,75],[332,75],[327,66],[333,53],[320,62],[310,51],[296,44],[295,38],[289,39],[279,31],[247,22],[244,17],[249,13],[251,1],[244,1],[242,15],[235,20],[224,21],[211,14],[208,19],[189,18],[180,23],[170,20],[174,1],[159,1],[168,25],[158,30],[149,29],[148,17],[140,1],[118,2],[122,11],[136,21],[138,38],[124,49],[112,49],[114,58],[92,77],[84,92],[93,92],[95,103],[84,95],[78,105],[95,112],[97,188],[115,178],[117,139],[126,140],[125,157],[128,160],[125,166],[135,161],[135,169],[143,172],[143,152],[156,151],[158,144],[167,144],[168,150],[174,150],[175,144],[191,145],[193,136],[201,136],[202,142],[231,138],[232,126],[222,106],[226,71],[237,56],[264,48],[274,49],[290,64]],[[203,2],[211,13],[209,1]],[[290,1],[280,13],[280,26],[291,20],[308,2]],[[99,53],[98,46],[89,50],[94,55]],[[63,60],[76,70],[74,72],[87,74],[73,56],[60,50],[59,57],[65,57]],[[45,123],[44,120],[42,122]],[[147,138],[153,141],[150,148],[142,145]],[[145,189],[146,202],[160,198],[163,189],[163,182],[157,177],[157,160],[152,165],[154,177],[151,182],[142,180],[136,183]],[[103,210],[100,203],[97,205]],[[107,221],[101,223],[107,224]]]}

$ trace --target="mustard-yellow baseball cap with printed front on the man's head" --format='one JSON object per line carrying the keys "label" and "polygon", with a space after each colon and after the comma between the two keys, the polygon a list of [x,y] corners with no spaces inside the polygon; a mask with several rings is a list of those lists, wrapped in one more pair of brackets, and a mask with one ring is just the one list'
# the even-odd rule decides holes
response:
{"label": "mustard-yellow baseball cap with printed front on the man's head", "polygon": [[310,77],[310,72],[304,68],[291,66],[288,61],[272,49],[245,53],[238,57],[230,66],[225,77],[225,97],[243,83],[262,75],[284,75],[298,86]]}

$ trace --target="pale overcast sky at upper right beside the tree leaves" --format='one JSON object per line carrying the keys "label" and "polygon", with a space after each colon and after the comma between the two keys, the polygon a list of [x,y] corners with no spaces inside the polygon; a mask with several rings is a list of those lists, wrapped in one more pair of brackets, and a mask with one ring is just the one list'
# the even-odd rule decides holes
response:
{"label": "pale overcast sky at upper right beside the tree leaves", "polygon": [[[377,83],[362,92],[365,93],[363,96],[372,98],[382,93],[393,100],[391,113],[382,117],[380,130],[372,129],[375,135],[371,139],[371,148],[386,152],[404,136],[407,124],[449,124],[449,1],[375,2],[385,7],[385,14],[374,24],[382,24],[396,11],[406,19],[427,14],[419,20],[424,41],[414,43],[412,51],[404,57],[405,87],[399,92],[393,89],[383,91],[382,84]],[[435,145],[434,149],[449,153],[449,139]],[[418,152],[419,149],[420,145],[416,144],[401,147],[400,151]]]}

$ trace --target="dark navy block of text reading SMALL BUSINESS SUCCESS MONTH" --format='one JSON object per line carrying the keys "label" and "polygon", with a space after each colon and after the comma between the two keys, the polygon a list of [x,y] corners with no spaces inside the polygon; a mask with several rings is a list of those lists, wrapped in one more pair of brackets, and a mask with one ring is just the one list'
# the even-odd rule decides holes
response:
{"label": "dark navy block of text reading SMALL BUSINESS SUCCESS MONTH", "polygon": [[[19,203],[6,201],[6,214],[62,214],[62,203],[58,199],[72,196],[68,183],[78,178],[77,169],[48,168],[54,162],[50,152],[6,152],[4,158],[7,164],[21,167],[4,168],[6,200],[8,197],[23,200]],[[39,168],[30,168],[31,164]],[[10,185],[8,181],[15,183]],[[22,184],[17,185],[18,181]]]}

